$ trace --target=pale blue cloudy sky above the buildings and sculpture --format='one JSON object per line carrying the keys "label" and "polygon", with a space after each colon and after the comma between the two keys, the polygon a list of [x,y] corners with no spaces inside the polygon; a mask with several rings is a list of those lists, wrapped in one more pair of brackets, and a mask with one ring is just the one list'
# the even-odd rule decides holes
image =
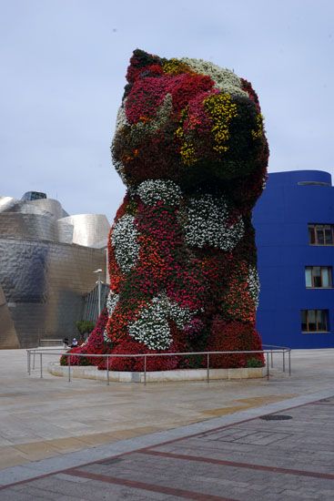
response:
{"label": "pale blue cloudy sky above the buildings and sculpture", "polygon": [[135,48],[233,69],[258,92],[268,172],[334,173],[332,0],[0,0],[0,196],[115,217],[110,158]]}

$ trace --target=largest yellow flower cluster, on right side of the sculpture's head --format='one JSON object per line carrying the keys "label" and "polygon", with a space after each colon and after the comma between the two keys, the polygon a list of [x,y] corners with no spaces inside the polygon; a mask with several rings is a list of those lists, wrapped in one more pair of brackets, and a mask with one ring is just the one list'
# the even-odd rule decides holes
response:
{"label": "largest yellow flower cluster, on right side of the sculpture's head", "polygon": [[213,147],[218,153],[228,151],[226,143],[229,138],[228,126],[233,118],[238,116],[237,105],[232,103],[229,94],[215,94],[204,100],[204,106],[212,118],[216,145]]}

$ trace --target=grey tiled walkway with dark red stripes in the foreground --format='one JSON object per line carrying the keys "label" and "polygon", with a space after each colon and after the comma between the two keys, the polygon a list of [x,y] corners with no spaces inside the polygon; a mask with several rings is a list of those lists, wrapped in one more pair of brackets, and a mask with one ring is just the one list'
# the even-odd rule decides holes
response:
{"label": "grey tiled walkway with dark red stripes in the foreground", "polygon": [[261,417],[5,486],[0,499],[331,501],[334,396],[285,404],[269,419],[262,408]]}

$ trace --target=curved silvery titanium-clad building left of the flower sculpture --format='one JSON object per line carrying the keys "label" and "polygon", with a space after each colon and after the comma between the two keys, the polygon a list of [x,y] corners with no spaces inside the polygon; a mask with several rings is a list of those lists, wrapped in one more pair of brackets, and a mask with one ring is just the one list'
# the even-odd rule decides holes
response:
{"label": "curved silvery titanium-clad building left of the flower sculpture", "polygon": [[44,193],[0,197],[0,348],[76,333],[92,271],[106,273],[108,230],[106,216],[68,216]]}

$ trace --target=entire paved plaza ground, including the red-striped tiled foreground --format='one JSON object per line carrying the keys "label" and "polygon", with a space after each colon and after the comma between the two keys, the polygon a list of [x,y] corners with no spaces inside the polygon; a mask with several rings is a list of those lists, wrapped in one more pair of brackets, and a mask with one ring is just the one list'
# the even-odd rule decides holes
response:
{"label": "entire paved plaza ground, including the red-striped tiled foreground", "polygon": [[40,379],[0,352],[0,499],[334,499],[333,356],[145,387]]}

